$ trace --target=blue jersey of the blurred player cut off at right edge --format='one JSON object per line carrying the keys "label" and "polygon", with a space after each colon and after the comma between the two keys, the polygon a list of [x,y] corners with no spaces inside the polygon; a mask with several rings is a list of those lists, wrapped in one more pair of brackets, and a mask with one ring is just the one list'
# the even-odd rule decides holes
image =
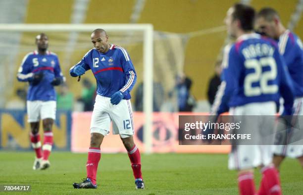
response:
{"label": "blue jersey of the blurred player cut off at right edge", "polygon": [[303,45],[291,31],[286,30],[278,42],[294,85],[295,96],[303,97]]}

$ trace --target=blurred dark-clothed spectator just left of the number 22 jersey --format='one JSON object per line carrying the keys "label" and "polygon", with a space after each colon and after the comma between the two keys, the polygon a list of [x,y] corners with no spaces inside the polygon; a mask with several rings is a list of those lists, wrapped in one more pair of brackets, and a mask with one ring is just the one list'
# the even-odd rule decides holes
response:
{"label": "blurred dark-clothed spectator just left of the number 22 jersey", "polygon": [[221,84],[221,79],[220,79],[221,64],[222,64],[221,60],[215,63],[214,75],[210,78],[208,83],[207,98],[210,106],[212,106],[218,87]]}

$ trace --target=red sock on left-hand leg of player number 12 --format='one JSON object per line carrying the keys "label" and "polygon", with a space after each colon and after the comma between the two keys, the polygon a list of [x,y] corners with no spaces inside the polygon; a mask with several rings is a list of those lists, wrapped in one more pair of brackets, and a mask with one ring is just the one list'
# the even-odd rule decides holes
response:
{"label": "red sock on left-hand leg of player number 12", "polygon": [[90,147],[86,163],[87,178],[90,178],[92,183],[96,185],[97,169],[101,158],[100,147]]}

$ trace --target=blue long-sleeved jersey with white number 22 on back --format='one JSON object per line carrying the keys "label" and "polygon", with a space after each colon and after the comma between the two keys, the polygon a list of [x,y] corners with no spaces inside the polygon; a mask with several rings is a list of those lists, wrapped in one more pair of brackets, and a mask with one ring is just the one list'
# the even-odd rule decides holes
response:
{"label": "blue long-sleeved jersey with white number 22 on back", "polygon": [[285,112],[291,114],[294,101],[290,76],[277,44],[258,34],[245,34],[226,46],[222,61],[222,83],[211,114],[217,115],[255,102],[285,99]]}

